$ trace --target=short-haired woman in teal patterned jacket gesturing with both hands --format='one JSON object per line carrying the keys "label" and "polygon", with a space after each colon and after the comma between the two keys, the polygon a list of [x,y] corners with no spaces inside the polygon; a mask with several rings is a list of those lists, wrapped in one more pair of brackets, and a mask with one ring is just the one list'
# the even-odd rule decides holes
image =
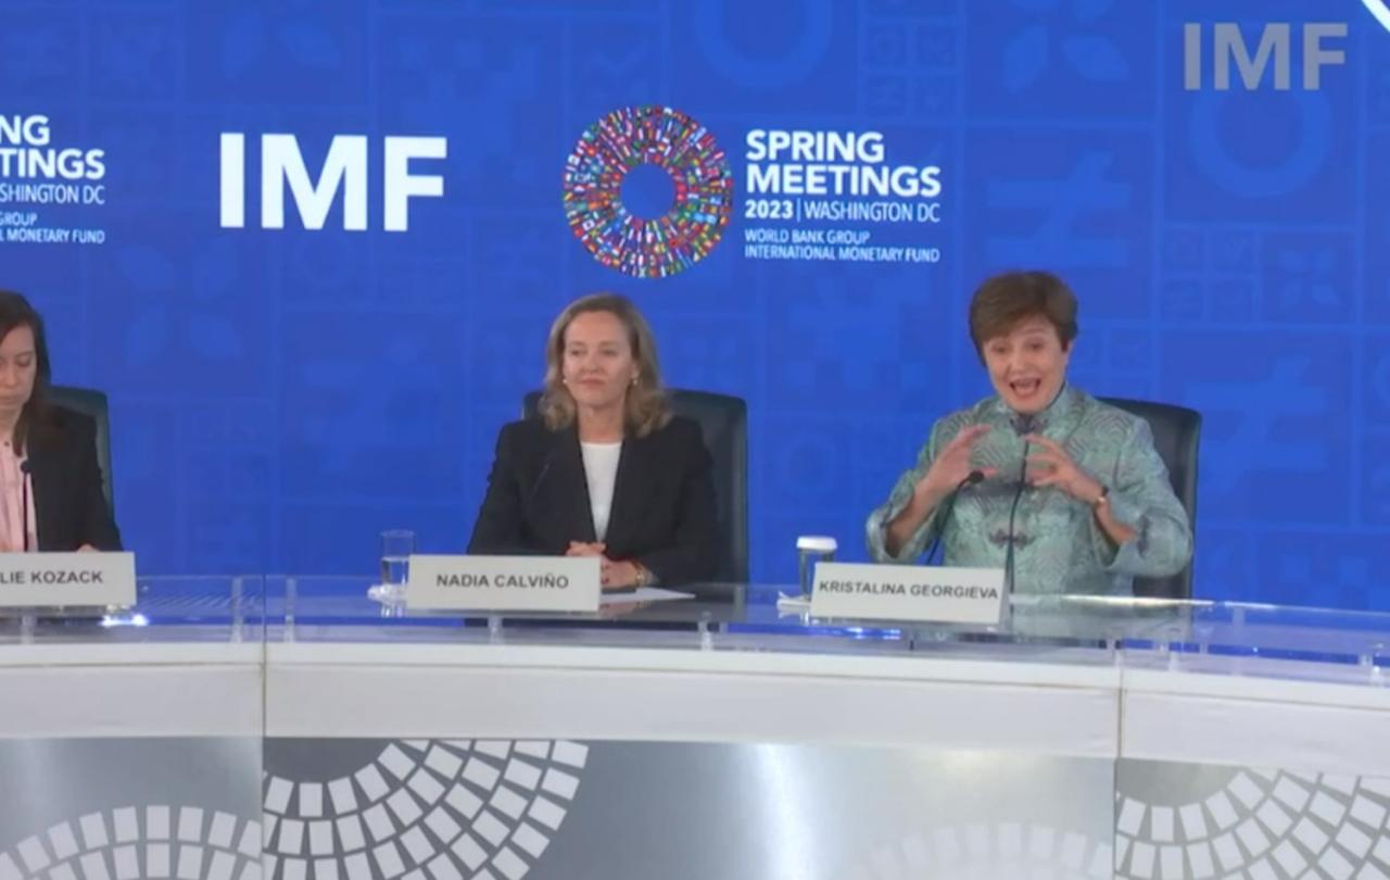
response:
{"label": "short-haired woman in teal patterned jacket gesturing with both hands", "polygon": [[995,393],[933,425],[869,516],[874,559],[912,562],[940,537],[948,564],[1004,567],[1030,594],[1126,595],[1187,564],[1187,512],[1148,423],[1066,382],[1076,311],[1048,272],[980,285],[970,338]]}

